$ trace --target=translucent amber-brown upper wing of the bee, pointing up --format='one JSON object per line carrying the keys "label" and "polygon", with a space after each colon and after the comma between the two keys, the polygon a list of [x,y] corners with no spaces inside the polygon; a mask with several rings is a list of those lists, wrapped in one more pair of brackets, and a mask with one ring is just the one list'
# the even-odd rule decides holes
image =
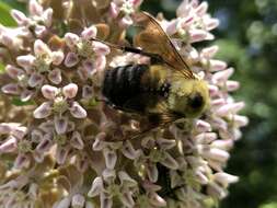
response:
{"label": "translucent amber-brown upper wing of the bee, pointing up", "polygon": [[184,77],[193,79],[194,74],[189,66],[178,54],[159,22],[147,12],[141,12],[136,18],[138,25],[145,30],[134,37],[134,45],[141,47],[146,53],[161,56],[169,67],[180,71]]}

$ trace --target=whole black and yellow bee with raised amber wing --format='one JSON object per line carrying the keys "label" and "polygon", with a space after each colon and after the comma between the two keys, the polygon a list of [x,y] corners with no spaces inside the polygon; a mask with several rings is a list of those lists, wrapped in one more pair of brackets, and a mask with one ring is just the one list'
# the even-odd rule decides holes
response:
{"label": "whole black and yellow bee with raised amber wing", "polygon": [[134,47],[101,42],[147,56],[150,63],[106,70],[102,94],[114,107],[146,116],[152,126],[200,116],[209,104],[207,83],[192,71],[152,15],[141,12],[137,20],[143,30],[135,35]]}

